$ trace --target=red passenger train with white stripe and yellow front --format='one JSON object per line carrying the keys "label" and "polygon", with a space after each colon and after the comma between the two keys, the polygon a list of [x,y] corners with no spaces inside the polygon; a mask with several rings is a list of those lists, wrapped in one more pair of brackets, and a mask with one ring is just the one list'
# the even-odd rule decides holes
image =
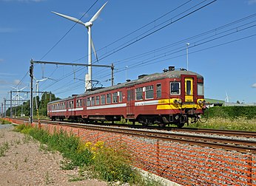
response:
{"label": "red passenger train with white stripe and yellow front", "polygon": [[163,73],[50,102],[47,114],[51,120],[104,123],[125,119],[134,124],[182,127],[203,114],[203,93],[203,76],[169,66]]}

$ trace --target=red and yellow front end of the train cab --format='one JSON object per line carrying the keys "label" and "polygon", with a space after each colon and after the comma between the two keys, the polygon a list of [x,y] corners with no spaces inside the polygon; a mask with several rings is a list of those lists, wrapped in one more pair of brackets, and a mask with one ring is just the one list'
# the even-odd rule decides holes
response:
{"label": "red and yellow front end of the train cab", "polygon": [[169,104],[172,106],[172,114],[169,123],[182,127],[185,123],[189,125],[197,122],[206,108],[203,94],[201,75],[185,71],[180,79],[171,80]]}

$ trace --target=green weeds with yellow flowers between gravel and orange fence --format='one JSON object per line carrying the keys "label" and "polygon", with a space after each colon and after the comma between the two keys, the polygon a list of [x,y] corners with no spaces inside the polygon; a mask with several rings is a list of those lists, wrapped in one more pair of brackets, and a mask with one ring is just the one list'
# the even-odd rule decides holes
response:
{"label": "green weeds with yellow flowers between gravel and orange fence", "polygon": [[[15,131],[29,134],[41,142],[41,151],[59,151],[64,157],[61,168],[70,170],[79,168],[79,176],[70,179],[75,182],[82,179],[97,178],[106,182],[128,182],[130,185],[161,185],[152,179],[144,178],[130,165],[131,158],[124,146],[110,148],[104,142],[82,142],[73,134],[64,131],[49,134],[29,125],[17,125]],[[46,176],[46,182],[49,180]]]}

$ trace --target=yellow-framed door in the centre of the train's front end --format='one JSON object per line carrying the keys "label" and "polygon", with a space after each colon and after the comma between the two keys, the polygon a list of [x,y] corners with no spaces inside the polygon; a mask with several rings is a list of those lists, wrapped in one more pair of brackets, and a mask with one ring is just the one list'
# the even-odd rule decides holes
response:
{"label": "yellow-framed door in the centre of the train's front end", "polygon": [[186,75],[181,75],[181,82],[183,83],[182,88],[181,88],[181,94],[183,97],[183,101],[187,103],[194,102],[195,100],[195,92],[196,92],[196,81],[197,77],[196,76],[186,76]]}

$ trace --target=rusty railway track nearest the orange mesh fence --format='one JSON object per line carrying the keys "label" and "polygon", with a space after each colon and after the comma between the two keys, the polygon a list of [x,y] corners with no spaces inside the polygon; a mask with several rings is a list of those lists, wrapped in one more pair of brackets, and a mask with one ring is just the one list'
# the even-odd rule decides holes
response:
{"label": "rusty railway track nearest the orange mesh fence", "polygon": [[[44,123],[44,121],[41,121],[41,122]],[[115,132],[118,134],[146,137],[146,138],[151,138],[155,140],[169,140],[173,142],[183,142],[183,143],[189,143],[191,145],[200,145],[203,147],[223,148],[228,151],[239,151],[242,153],[256,154],[256,140],[252,140],[252,137],[248,137],[247,140],[239,140],[239,139],[232,139],[229,137],[221,137],[221,136],[212,137],[212,136],[205,136],[200,134],[181,134],[173,131],[170,132],[170,131],[145,130],[141,128],[124,128],[124,127],[121,128],[121,127],[107,126],[107,125],[88,125],[88,124],[81,124],[81,123],[65,123],[65,122],[52,122],[52,121],[47,121],[46,124],[47,123],[53,124],[53,125],[67,125],[73,128],[87,128],[90,130]],[[203,130],[203,131],[206,131],[206,130]],[[229,131],[228,133],[231,134],[232,132]],[[235,131],[235,134],[239,134],[239,132]],[[249,132],[249,135],[252,135],[252,134]],[[246,137],[246,134],[243,134],[243,136]]]}

